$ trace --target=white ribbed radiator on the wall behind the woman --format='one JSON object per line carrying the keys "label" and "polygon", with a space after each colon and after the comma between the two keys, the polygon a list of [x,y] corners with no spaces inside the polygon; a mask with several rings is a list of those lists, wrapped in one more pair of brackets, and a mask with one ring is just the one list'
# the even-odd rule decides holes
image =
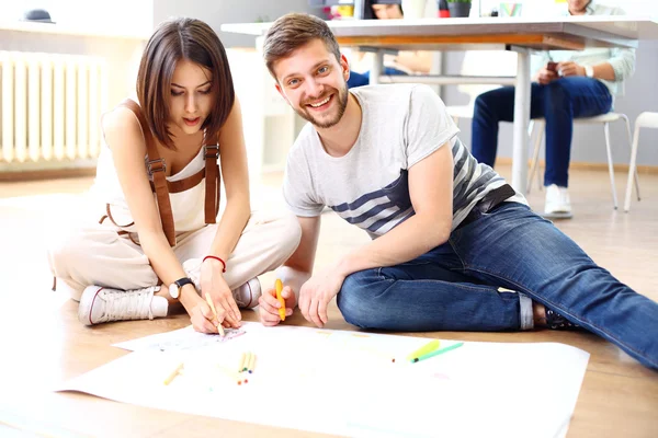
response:
{"label": "white ribbed radiator on the wall behind the woman", "polygon": [[0,171],[98,157],[107,102],[104,59],[0,51]]}

